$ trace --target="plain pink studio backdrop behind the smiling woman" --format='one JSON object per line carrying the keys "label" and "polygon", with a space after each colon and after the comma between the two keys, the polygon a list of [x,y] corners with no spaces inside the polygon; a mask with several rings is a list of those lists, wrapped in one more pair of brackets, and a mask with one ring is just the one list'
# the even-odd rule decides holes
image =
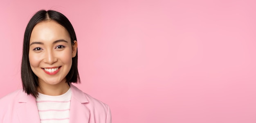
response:
{"label": "plain pink studio backdrop behind the smiling woman", "polygon": [[27,22],[66,15],[84,92],[113,123],[256,123],[254,0],[1,0],[0,97],[22,87]]}

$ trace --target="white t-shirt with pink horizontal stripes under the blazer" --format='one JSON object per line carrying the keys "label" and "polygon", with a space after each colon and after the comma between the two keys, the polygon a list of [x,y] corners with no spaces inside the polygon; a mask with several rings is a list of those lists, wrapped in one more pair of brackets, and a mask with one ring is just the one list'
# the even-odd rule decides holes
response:
{"label": "white t-shirt with pink horizontal stripes under the blazer", "polygon": [[71,89],[59,96],[39,93],[36,105],[41,123],[69,123]]}

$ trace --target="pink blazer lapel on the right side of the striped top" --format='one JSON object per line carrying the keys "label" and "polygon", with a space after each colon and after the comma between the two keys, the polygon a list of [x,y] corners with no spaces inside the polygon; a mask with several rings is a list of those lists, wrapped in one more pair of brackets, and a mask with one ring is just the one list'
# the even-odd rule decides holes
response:
{"label": "pink blazer lapel on the right side of the striped top", "polygon": [[72,90],[72,97],[70,102],[70,123],[89,123],[90,110],[86,108],[85,104],[88,99],[85,94],[70,84]]}

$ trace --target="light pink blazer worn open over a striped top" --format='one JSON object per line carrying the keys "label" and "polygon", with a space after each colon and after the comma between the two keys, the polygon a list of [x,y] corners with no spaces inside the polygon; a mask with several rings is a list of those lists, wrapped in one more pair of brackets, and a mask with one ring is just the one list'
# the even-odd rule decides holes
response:
{"label": "light pink blazer worn open over a striped top", "polygon": [[[70,84],[70,123],[111,123],[108,105]],[[0,99],[0,123],[40,123],[36,99],[22,89]]]}

